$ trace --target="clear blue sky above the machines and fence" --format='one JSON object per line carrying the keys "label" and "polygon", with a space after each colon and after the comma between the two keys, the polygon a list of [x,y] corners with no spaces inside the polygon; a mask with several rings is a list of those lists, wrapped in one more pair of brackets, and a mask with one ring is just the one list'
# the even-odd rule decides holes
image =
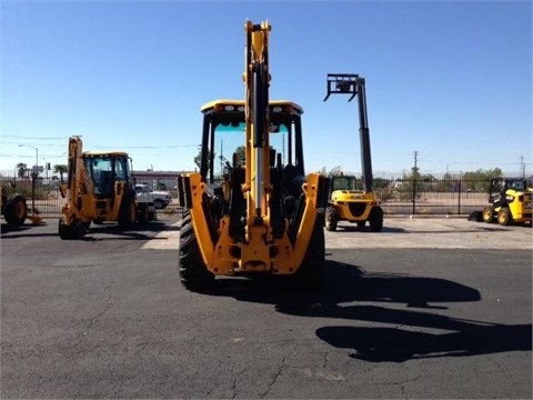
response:
{"label": "clear blue sky above the machines and fence", "polygon": [[[304,108],[308,172],[361,171],[366,79],[374,172],[533,170],[531,1],[11,1],[1,7],[0,170],[125,150],[190,170],[203,103],[242,98],[244,22],[268,20],[271,98]],[[26,144],[20,147],[19,144]]]}

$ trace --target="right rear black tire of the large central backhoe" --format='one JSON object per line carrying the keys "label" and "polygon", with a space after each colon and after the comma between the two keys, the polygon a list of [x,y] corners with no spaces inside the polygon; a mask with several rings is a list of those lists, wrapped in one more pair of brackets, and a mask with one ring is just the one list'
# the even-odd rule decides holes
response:
{"label": "right rear black tire of the large central backhoe", "polygon": [[318,291],[324,280],[325,238],[323,218],[323,214],[316,217],[303,262],[292,277],[294,284],[304,290]]}

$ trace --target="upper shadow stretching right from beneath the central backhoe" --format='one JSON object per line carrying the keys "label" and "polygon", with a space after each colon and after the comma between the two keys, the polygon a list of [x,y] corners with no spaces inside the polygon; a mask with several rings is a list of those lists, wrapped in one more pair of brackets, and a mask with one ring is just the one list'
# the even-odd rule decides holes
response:
{"label": "upper shadow stretching right from beneath the central backhoe", "polygon": [[[306,304],[320,303],[323,317],[342,317],[340,303],[371,301],[404,303],[412,308],[445,309],[435,303],[480,301],[477,290],[439,278],[401,273],[365,272],[358,266],[326,261],[325,278],[318,292],[299,289],[283,279],[219,278],[209,291],[213,296],[232,296],[238,300],[275,304],[281,312],[308,316]],[[315,309],[313,308],[313,312]],[[342,312],[346,310],[342,307]],[[348,316],[349,317],[349,316]]]}

